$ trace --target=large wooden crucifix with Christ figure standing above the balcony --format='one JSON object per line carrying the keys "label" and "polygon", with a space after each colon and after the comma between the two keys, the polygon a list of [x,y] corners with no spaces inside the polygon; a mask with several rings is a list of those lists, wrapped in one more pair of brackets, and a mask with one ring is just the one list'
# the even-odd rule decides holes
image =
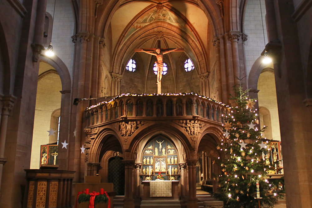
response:
{"label": "large wooden crucifix with Christ figure standing above the balcony", "polygon": [[155,61],[155,64],[157,65],[157,94],[161,94],[161,78],[163,76],[163,55],[173,51],[181,52],[184,50],[183,48],[161,48],[160,40],[157,41],[157,48],[134,49],[134,52],[144,52],[156,56],[157,61]]}

